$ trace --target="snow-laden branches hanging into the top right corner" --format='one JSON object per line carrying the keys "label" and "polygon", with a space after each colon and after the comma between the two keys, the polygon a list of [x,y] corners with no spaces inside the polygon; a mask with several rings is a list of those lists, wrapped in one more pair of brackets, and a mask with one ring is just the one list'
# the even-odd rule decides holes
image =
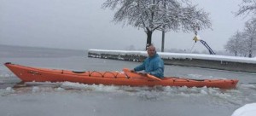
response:
{"label": "snow-laden branches hanging into the top right corner", "polygon": [[242,14],[256,14],[256,1],[255,0],[242,0],[239,5],[239,10],[236,12],[237,15]]}

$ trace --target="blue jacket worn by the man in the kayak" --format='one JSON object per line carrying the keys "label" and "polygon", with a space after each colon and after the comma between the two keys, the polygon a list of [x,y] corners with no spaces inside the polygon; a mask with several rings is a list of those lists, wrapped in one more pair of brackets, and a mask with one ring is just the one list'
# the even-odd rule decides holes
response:
{"label": "blue jacket worn by the man in the kayak", "polygon": [[158,54],[155,54],[153,57],[146,58],[143,64],[134,68],[136,72],[143,70],[157,78],[164,78],[164,61]]}

